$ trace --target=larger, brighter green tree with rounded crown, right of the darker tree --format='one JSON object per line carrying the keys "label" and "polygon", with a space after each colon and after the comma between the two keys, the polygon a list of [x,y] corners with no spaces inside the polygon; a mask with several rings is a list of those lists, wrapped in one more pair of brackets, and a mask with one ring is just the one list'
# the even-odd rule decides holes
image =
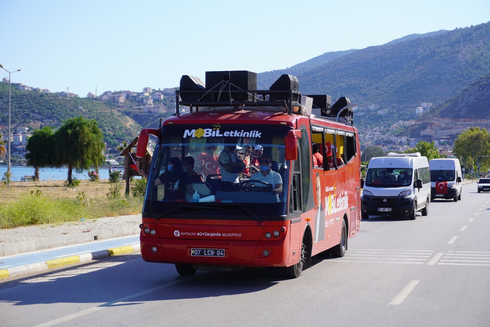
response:
{"label": "larger, brighter green tree with rounded crown, right of the darker tree", "polygon": [[81,172],[91,166],[98,169],[105,161],[102,151],[102,131],[97,121],[82,116],[71,118],[54,133],[54,166],[68,166],[68,185],[72,184],[72,171]]}

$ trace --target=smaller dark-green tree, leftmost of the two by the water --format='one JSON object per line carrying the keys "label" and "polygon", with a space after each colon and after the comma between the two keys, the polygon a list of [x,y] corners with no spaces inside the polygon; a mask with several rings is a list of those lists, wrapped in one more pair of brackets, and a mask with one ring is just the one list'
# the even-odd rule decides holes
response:
{"label": "smaller dark-green tree, leftmost of the two by the water", "polygon": [[52,165],[53,161],[53,130],[49,126],[35,130],[27,139],[25,159],[34,167],[34,180],[39,180],[39,168]]}

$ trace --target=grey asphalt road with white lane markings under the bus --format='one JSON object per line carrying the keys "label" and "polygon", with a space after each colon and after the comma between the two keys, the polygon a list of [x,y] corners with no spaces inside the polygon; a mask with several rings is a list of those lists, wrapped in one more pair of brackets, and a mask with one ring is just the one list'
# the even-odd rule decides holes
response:
{"label": "grey asphalt road with white lane markings under the bus", "polygon": [[342,259],[179,276],[138,254],[0,284],[1,326],[490,326],[490,193],[371,217]]}

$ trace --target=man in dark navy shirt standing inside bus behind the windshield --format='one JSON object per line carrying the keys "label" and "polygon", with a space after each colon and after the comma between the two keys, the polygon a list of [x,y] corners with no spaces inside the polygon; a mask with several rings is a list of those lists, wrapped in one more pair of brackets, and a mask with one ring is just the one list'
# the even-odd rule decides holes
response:
{"label": "man in dark navy shirt standing inside bus behind the windshield", "polygon": [[[227,142],[232,143],[232,142]],[[220,191],[238,192],[240,191],[240,177],[244,168],[244,162],[238,157],[236,149],[238,145],[226,145],[220,153],[219,162],[221,166]]]}

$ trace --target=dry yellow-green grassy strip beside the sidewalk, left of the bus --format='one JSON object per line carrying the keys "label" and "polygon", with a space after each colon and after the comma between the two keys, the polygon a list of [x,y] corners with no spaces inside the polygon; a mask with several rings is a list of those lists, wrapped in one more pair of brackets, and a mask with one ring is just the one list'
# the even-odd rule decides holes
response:
{"label": "dry yellow-green grassy strip beside the sidewalk, left of the bus", "polygon": [[120,196],[107,196],[114,195],[108,180],[81,181],[75,189],[63,183],[12,182],[10,188],[1,187],[0,228],[141,213],[143,200],[125,197],[123,182]]}

